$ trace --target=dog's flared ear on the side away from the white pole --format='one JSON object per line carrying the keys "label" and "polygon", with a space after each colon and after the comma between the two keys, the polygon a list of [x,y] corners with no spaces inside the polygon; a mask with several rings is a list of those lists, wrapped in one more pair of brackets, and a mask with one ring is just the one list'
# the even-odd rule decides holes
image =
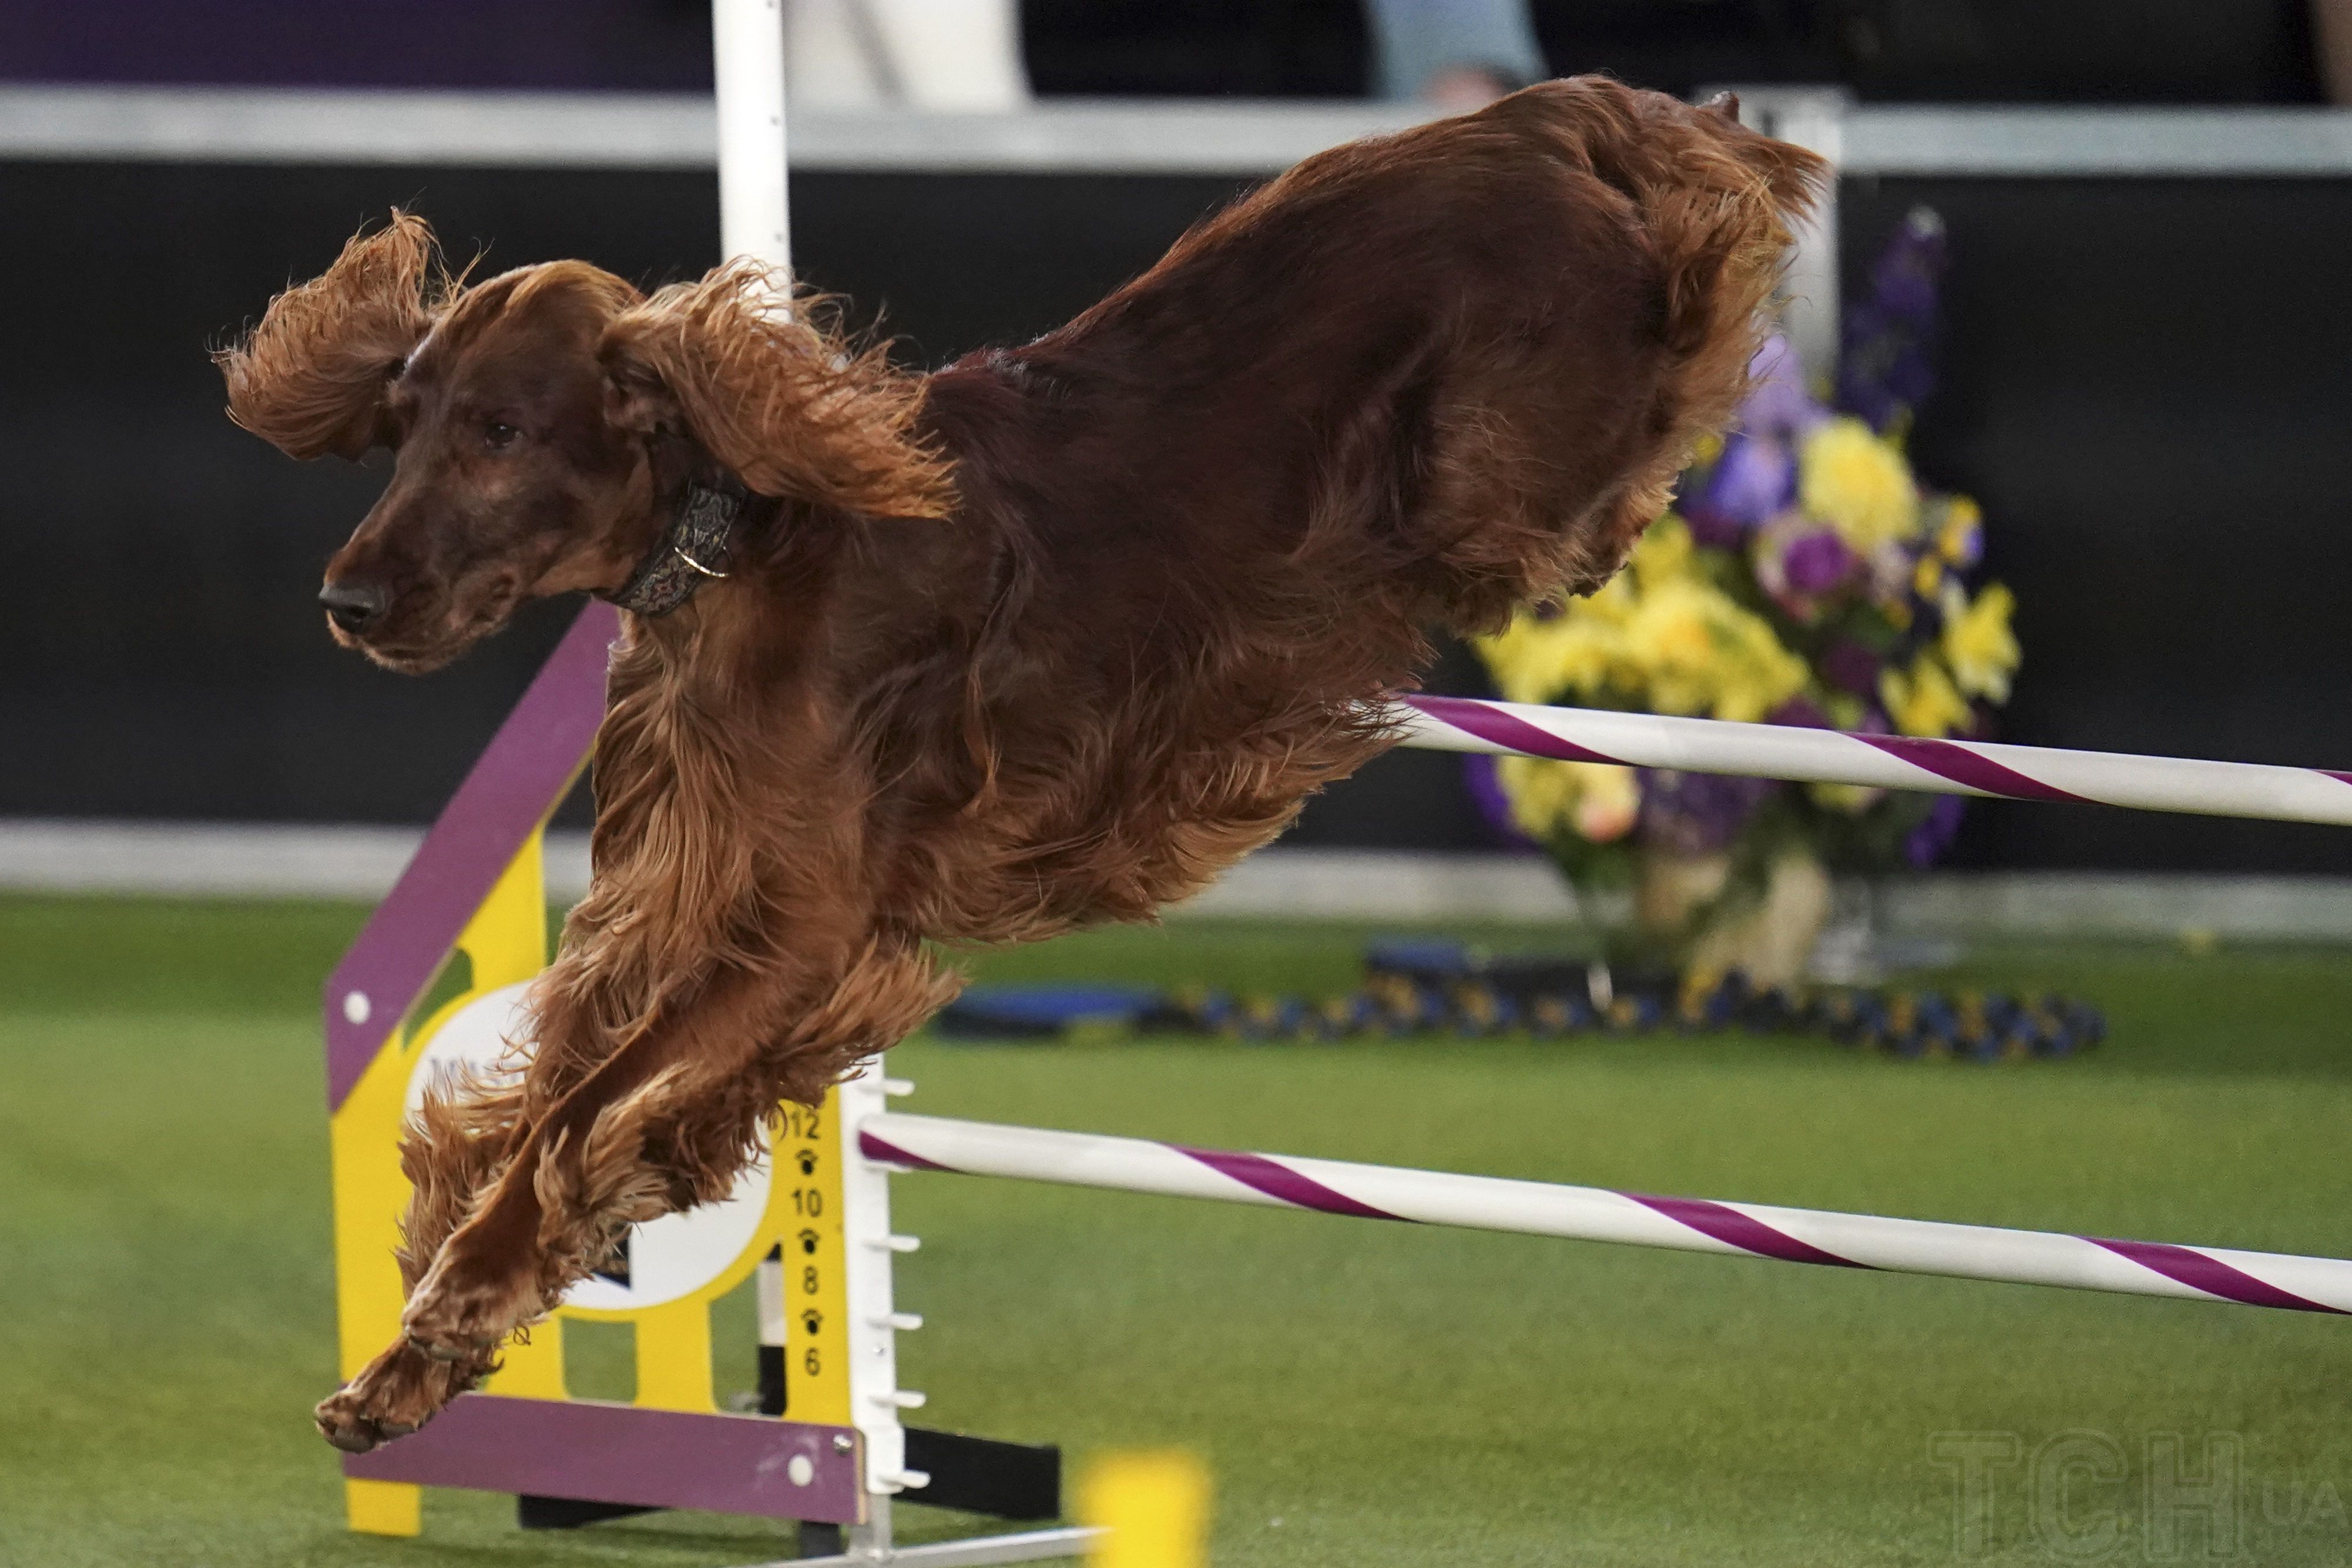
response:
{"label": "dog's flared ear on the side away from the white pole", "polygon": [[214,355],[228,416],[287,456],[358,458],[388,440],[383,390],[449,294],[433,230],[393,209],[334,266],[270,301],[242,343]]}

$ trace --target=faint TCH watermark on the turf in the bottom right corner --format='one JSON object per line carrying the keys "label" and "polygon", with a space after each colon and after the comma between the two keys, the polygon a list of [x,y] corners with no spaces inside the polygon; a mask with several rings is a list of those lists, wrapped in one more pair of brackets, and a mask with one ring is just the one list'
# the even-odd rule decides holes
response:
{"label": "faint TCH watermark on the turf in the bottom right corner", "polygon": [[[2032,1547],[2058,1563],[2260,1561],[2284,1533],[2340,1540],[2352,1512],[2336,1481],[2256,1476],[2237,1432],[1938,1432],[1929,1465],[1952,1483],[1952,1554]],[[2317,1544],[2317,1542],[2310,1542]]]}

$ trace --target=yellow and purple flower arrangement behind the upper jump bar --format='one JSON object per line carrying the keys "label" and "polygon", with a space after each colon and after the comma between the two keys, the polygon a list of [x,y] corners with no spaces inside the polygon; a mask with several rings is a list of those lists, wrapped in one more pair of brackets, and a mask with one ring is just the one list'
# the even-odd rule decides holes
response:
{"label": "yellow and purple flower arrangement behind the upper jump bar", "polygon": [[[1943,223],[1915,212],[1846,315],[1828,402],[1783,339],[1764,346],[1733,430],[1698,454],[1628,569],[1479,642],[1508,701],[1863,733],[1985,729],[2018,668],[2013,597],[1973,585],[1976,503],[1924,489],[1903,451],[1933,383],[1943,254]],[[1686,929],[1752,905],[1792,853],[1839,870],[1926,865],[1962,809],[1526,757],[1503,757],[1494,783],[1510,823],[1581,886],[1632,879],[1644,856],[1722,863],[1684,907]]]}

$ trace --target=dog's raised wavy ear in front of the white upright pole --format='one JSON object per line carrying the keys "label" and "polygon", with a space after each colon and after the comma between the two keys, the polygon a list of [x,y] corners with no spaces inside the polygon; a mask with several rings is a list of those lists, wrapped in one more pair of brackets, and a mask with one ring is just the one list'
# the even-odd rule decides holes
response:
{"label": "dog's raised wavy ear in front of the white upright pole", "polygon": [[917,430],[922,381],[858,348],[833,301],[739,261],[623,310],[597,350],[607,418],[703,444],[762,496],[868,517],[946,517],[948,458]]}

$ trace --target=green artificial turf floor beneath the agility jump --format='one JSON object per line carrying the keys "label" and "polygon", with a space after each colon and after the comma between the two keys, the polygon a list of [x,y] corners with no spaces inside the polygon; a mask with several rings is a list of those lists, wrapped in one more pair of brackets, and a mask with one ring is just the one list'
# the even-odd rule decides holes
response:
{"label": "green artificial turf floor beneath the agility jump", "polygon": [[[421,1542],[341,1530],[306,1418],[334,1371],[315,994],[358,919],[0,900],[0,1563],[783,1554],[776,1526],[715,1516],[520,1535],[463,1493],[428,1497]],[[1188,924],[978,969],[1319,990],[1352,980],[1362,936]],[[2020,947],[1955,978],[2100,1001],[2112,1041],[2025,1067],[1743,1034],[915,1041],[894,1070],[936,1114],[2352,1255],[2345,954]],[[924,1237],[898,1284],[929,1324],[903,1347],[924,1420],[1080,1458],[1190,1446],[1221,1568],[2352,1561],[2340,1319],[948,1175],[894,1194]],[[1931,1458],[1955,1432],[2023,1455],[1987,1540],[1957,1535]],[[2192,1472],[2234,1465],[2232,1540],[2147,1530],[2166,1434]]]}

